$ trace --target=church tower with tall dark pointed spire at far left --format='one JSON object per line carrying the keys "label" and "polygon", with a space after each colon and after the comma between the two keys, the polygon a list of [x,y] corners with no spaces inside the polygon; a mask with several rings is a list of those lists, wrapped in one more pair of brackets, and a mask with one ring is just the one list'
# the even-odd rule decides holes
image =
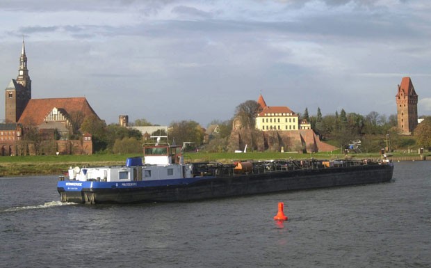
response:
{"label": "church tower with tall dark pointed spire at far left", "polygon": [[27,69],[26,48],[24,40],[22,40],[18,77],[17,79],[12,79],[6,88],[6,123],[17,123],[29,100],[31,100],[31,79],[29,77],[29,70]]}

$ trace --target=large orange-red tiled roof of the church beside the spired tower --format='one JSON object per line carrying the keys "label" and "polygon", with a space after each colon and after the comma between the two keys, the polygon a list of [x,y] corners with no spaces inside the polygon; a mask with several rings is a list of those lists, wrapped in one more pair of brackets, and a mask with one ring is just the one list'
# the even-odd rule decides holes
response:
{"label": "large orange-red tiled roof of the church beside the spired tower", "polygon": [[74,113],[82,113],[83,118],[90,115],[95,115],[99,118],[90,107],[85,97],[63,97],[29,100],[18,123],[22,123],[23,125],[40,125],[44,122],[45,116],[47,116],[54,107],[62,109],[70,116]]}

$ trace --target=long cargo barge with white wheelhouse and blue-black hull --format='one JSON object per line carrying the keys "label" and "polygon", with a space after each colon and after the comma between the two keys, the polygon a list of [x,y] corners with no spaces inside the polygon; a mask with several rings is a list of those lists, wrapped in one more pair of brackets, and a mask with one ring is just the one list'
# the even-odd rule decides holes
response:
{"label": "long cargo barge with white wheelhouse and blue-black hull", "polygon": [[144,146],[124,166],[70,167],[60,176],[62,202],[174,202],[276,191],[389,182],[389,161],[271,160],[184,163],[179,146]]}

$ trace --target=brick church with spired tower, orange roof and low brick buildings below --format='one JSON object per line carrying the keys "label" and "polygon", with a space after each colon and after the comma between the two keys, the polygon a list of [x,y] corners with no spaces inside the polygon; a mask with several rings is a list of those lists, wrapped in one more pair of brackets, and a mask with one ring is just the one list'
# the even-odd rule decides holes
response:
{"label": "brick church with spired tower, orange roof and low brick buildings below", "polygon": [[[11,79],[5,90],[5,123],[0,124],[0,155],[92,154],[90,134],[79,135],[76,139],[79,127],[88,116],[100,120],[86,97],[31,98],[31,79],[23,40],[17,79]],[[30,139],[29,136],[38,136],[38,139]],[[52,141],[56,141],[54,145]],[[50,148],[44,143],[51,143]]]}

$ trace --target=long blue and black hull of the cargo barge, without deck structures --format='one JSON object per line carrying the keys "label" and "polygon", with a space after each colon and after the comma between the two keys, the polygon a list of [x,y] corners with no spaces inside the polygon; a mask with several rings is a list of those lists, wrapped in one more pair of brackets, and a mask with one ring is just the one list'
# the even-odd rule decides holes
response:
{"label": "long blue and black hull of the cargo barge, without deck structures", "polygon": [[392,164],[381,164],[136,182],[65,180],[57,189],[63,202],[174,202],[389,182],[392,174]]}

